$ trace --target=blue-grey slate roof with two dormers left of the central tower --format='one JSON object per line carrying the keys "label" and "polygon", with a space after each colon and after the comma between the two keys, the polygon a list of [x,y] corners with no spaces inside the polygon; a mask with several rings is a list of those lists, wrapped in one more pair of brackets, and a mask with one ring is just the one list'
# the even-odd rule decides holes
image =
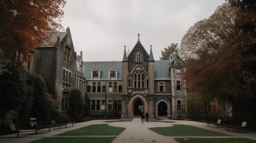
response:
{"label": "blue-grey slate roof with two dormers left of the central tower", "polygon": [[[97,68],[99,68],[101,73],[101,79],[108,79],[108,70],[112,67],[112,63],[114,63],[114,67],[117,69],[117,79],[122,79],[122,62],[121,61],[108,61],[108,62],[96,62]],[[91,79],[91,69],[94,68],[95,62],[83,62],[84,65],[84,75],[87,79]]]}

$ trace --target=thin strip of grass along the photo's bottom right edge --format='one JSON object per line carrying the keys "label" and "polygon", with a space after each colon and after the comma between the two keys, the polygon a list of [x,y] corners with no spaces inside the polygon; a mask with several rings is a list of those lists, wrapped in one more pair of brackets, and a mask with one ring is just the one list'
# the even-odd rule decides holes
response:
{"label": "thin strip of grass along the photo's bottom right edge", "polygon": [[176,138],[175,140],[179,143],[256,143],[256,141],[245,138],[218,138],[218,139],[207,139],[207,138]]}

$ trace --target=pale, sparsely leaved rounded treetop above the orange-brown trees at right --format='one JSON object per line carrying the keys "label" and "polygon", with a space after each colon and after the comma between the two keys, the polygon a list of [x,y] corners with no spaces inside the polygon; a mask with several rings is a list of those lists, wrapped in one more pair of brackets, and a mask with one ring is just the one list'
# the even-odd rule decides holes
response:
{"label": "pale, sparsely leaved rounded treetop above the orange-brown trees at right", "polygon": [[200,52],[214,54],[228,36],[234,37],[236,9],[223,4],[208,18],[196,22],[182,37],[180,55],[197,58]]}

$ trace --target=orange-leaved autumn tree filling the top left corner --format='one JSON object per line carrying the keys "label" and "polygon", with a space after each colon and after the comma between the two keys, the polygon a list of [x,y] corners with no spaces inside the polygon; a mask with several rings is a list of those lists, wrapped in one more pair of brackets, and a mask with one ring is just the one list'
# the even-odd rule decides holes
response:
{"label": "orange-leaved autumn tree filling the top left corner", "polygon": [[[29,50],[49,41],[61,29],[65,0],[1,0],[0,59],[9,59],[22,67]],[[57,21],[58,20],[58,21]]]}

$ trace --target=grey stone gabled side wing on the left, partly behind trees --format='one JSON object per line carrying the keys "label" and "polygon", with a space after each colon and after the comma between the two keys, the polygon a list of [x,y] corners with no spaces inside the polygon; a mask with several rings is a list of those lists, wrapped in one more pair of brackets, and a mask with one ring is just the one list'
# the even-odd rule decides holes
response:
{"label": "grey stone gabled side wing on the left, partly behind trees", "polygon": [[[47,45],[47,46],[46,46]],[[34,51],[33,71],[43,77],[55,96],[59,112],[66,112],[72,89],[85,94],[82,52],[76,55],[70,28],[52,35],[50,43]]]}

